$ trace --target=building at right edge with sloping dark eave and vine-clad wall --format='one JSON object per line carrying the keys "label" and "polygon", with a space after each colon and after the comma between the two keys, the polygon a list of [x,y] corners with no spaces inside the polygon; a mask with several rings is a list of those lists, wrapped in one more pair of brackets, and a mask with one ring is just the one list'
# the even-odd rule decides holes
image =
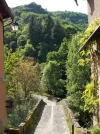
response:
{"label": "building at right edge with sloping dark eave and vine-clad wall", "polygon": [[[91,23],[96,18],[100,18],[100,1],[87,0],[88,6],[88,22]],[[95,41],[95,45],[93,42]],[[93,125],[100,123],[100,26],[86,40],[82,49],[90,46],[91,52],[91,74],[94,81],[94,96],[99,99],[99,104],[95,105],[93,113]]]}

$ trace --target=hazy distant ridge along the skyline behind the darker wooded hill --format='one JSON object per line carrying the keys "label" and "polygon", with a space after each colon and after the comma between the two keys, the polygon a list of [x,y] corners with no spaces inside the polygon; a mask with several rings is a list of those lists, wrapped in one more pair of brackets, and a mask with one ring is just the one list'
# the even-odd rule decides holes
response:
{"label": "hazy distant ridge along the skyline behind the darker wooded hill", "polygon": [[32,2],[28,5],[12,8],[12,12],[15,17],[22,17],[23,14],[25,17],[26,14],[27,18],[30,18],[34,13],[38,15],[50,13],[53,17],[58,17],[61,19],[63,24],[82,25],[84,28],[88,24],[88,17],[86,14],[70,11],[48,12],[46,9],[43,9],[41,5],[38,5],[35,2]]}

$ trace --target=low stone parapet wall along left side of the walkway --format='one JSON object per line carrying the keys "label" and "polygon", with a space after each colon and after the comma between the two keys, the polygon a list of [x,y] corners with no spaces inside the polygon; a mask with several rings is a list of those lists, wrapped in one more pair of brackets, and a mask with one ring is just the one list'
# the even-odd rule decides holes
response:
{"label": "low stone parapet wall along left side of the walkway", "polygon": [[32,113],[26,118],[26,120],[19,125],[19,128],[13,129],[10,128],[9,134],[31,134],[34,133],[35,128],[40,120],[42,111],[44,109],[45,102],[43,100],[39,100]]}

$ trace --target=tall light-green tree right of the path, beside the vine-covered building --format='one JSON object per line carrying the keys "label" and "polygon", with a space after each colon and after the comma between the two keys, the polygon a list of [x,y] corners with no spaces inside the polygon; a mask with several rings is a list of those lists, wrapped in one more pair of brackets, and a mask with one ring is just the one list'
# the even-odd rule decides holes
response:
{"label": "tall light-green tree right of the path, beside the vine-covered building", "polygon": [[79,65],[79,60],[82,58],[79,53],[79,39],[82,35],[76,35],[68,46],[68,60],[66,61],[67,74],[67,103],[74,112],[79,123],[84,127],[91,125],[91,114],[89,111],[84,111],[84,100],[82,93],[85,90],[86,84],[90,81],[90,64],[84,66]]}

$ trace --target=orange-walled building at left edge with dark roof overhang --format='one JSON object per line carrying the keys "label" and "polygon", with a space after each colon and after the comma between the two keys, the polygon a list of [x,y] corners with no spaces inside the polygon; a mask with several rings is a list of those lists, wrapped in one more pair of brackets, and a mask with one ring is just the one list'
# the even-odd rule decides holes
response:
{"label": "orange-walled building at left edge with dark roof overhang", "polygon": [[[13,15],[5,0],[0,0],[0,134],[4,134],[7,128],[7,113],[6,113],[6,87],[4,78],[4,19],[11,18]],[[9,24],[11,23],[9,22]],[[7,24],[7,25],[9,25]]]}

